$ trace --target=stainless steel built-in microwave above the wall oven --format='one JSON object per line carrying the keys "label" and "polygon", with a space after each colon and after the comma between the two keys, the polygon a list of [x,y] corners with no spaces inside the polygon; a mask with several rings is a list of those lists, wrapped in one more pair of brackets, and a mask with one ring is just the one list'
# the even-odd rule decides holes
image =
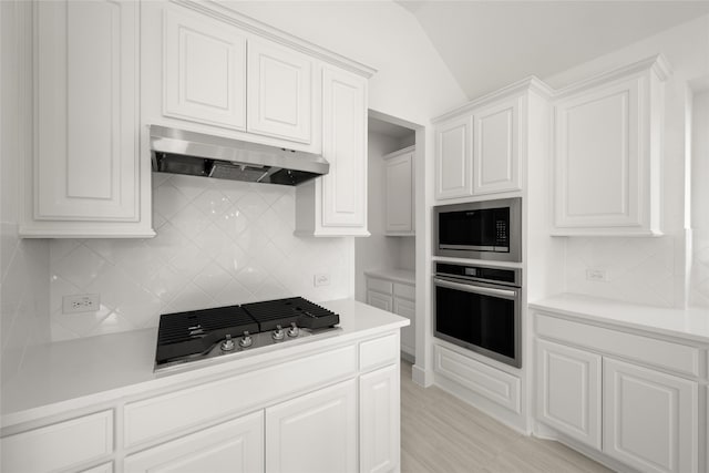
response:
{"label": "stainless steel built-in microwave above the wall oven", "polygon": [[436,256],[522,260],[522,198],[434,207]]}

